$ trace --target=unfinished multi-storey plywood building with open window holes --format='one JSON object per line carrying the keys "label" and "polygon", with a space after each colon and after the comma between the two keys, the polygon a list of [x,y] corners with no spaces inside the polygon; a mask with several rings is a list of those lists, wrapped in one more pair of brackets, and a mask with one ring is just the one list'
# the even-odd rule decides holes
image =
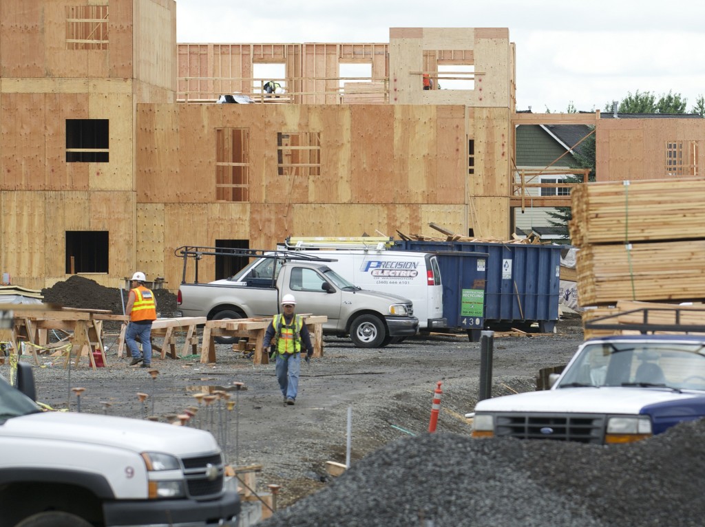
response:
{"label": "unfinished multi-storey plywood building with open window holes", "polygon": [[[546,185],[517,171],[522,124],[594,126],[600,180],[699,174],[704,120],[516,113],[516,89],[505,28],[178,44],[173,0],[4,0],[0,271],[115,287],[139,269],[176,289],[186,244],[433,235],[432,222],[507,239],[513,208]],[[202,266],[200,280],[233,271]]]}

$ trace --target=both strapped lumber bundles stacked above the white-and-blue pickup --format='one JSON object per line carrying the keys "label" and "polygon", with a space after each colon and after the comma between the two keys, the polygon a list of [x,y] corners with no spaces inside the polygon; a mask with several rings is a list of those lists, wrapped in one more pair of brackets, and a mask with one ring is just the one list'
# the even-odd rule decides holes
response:
{"label": "both strapped lumber bundles stacked above the white-and-blue pickup", "polygon": [[581,306],[705,299],[705,178],[580,185],[572,216]]}

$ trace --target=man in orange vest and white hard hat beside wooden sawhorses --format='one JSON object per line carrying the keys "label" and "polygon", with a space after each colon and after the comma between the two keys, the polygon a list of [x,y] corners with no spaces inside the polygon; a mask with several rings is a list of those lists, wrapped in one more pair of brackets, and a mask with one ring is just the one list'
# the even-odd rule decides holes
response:
{"label": "man in orange vest and white hard hat beside wooden sawhorses", "polygon": [[[130,349],[132,361],[130,366],[142,363],[142,368],[152,366],[152,321],[157,320],[157,299],[154,293],[145,287],[145,273],[137,271],[132,278],[128,304],[125,314],[130,315],[130,323],[125,331],[125,342]],[[137,347],[137,337],[142,342],[142,356]]]}

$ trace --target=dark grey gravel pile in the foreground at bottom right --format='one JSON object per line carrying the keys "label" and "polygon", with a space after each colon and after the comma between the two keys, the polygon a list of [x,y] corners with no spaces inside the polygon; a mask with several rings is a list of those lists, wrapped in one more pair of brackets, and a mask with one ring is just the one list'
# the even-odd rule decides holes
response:
{"label": "dark grey gravel pile in the foreground at bottom right", "polygon": [[610,447],[425,434],[369,454],[258,525],[700,526],[704,441],[703,421]]}

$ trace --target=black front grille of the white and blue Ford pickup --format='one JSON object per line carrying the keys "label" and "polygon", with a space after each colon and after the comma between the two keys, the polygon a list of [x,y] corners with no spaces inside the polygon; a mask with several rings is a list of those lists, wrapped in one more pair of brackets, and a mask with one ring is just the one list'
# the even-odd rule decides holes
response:
{"label": "black front grille of the white and blue Ford pickup", "polygon": [[601,445],[605,416],[596,414],[501,414],[495,435],[517,439],[550,439]]}

